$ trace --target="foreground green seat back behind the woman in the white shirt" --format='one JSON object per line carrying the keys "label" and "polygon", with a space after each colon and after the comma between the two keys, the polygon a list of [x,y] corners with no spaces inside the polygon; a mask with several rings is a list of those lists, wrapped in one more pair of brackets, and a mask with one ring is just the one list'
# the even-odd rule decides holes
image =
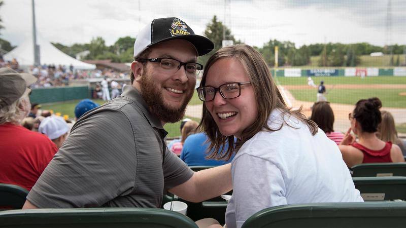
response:
{"label": "foreground green seat back behind the woman in the white shirt", "polygon": [[264,209],[248,227],[404,227],[404,202],[291,204]]}

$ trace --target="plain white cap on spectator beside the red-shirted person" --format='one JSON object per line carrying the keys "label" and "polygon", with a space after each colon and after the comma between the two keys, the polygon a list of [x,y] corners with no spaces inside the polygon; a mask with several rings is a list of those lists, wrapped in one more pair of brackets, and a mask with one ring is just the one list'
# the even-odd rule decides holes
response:
{"label": "plain white cap on spectator beside the red-shirted person", "polygon": [[46,134],[50,139],[56,139],[65,134],[69,128],[61,117],[51,116],[41,121],[38,131]]}

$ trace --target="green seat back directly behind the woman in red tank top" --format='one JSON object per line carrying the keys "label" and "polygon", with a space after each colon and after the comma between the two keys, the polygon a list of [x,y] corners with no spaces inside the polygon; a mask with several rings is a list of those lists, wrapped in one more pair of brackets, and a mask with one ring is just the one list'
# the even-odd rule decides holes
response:
{"label": "green seat back directly behind the woman in red tank top", "polygon": [[353,177],[406,176],[406,163],[364,163],[351,167]]}

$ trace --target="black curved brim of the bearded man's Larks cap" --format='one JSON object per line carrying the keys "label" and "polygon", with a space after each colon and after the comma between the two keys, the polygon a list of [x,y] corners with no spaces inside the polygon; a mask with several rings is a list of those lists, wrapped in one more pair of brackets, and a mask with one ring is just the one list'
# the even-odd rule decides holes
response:
{"label": "black curved brim of the bearded man's Larks cap", "polygon": [[189,34],[189,35],[175,35],[164,40],[160,40],[159,42],[152,43],[147,46],[150,48],[156,44],[165,42],[165,41],[172,41],[172,40],[185,40],[190,42],[197,50],[197,54],[199,56],[206,55],[207,53],[211,52],[214,49],[213,42],[205,36],[196,35],[196,34]]}

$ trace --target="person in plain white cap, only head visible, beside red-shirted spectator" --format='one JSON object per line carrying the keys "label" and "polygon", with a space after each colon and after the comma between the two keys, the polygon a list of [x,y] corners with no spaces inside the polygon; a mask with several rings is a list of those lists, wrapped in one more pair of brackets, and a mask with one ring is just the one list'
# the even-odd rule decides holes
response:
{"label": "person in plain white cap, only head visible, beside red-shirted spectator", "polygon": [[52,140],[56,147],[60,148],[66,140],[69,127],[61,117],[51,116],[41,121],[38,131]]}

